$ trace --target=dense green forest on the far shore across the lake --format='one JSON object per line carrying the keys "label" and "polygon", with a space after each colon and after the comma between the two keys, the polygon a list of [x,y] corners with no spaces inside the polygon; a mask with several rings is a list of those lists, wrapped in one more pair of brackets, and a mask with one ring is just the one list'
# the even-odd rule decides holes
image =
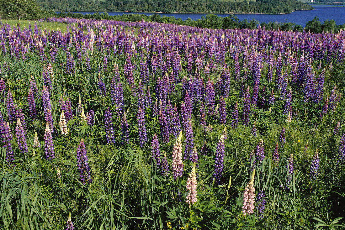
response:
{"label": "dense green forest on the far shore across the lake", "polygon": [[[249,3],[247,3],[247,1]],[[296,0],[37,0],[45,10],[54,11],[130,11],[165,13],[290,13],[313,9]]]}

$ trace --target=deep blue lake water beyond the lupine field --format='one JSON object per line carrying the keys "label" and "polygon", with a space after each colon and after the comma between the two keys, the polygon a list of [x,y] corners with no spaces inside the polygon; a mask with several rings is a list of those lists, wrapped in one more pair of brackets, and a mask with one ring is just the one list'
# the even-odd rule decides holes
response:
{"label": "deep blue lake water beyond the lupine field", "polygon": [[[256,19],[261,22],[293,22],[300,26],[305,26],[305,24],[312,20],[315,16],[319,17],[321,23],[325,20],[333,19],[336,24],[344,24],[345,23],[345,7],[333,7],[333,6],[313,6],[315,10],[297,10],[289,14],[235,14],[236,17],[242,21],[247,19],[248,21],[251,19]],[[90,13],[93,14],[95,12],[74,12],[74,13]],[[122,15],[122,14],[130,14],[130,12],[108,12],[110,16],[113,15]],[[154,13],[140,13],[150,16]],[[175,18],[180,18],[182,20],[186,20],[187,18],[198,20],[201,16],[206,16],[203,13],[157,13],[160,16],[174,16]],[[229,14],[216,14],[217,16],[227,17]]]}

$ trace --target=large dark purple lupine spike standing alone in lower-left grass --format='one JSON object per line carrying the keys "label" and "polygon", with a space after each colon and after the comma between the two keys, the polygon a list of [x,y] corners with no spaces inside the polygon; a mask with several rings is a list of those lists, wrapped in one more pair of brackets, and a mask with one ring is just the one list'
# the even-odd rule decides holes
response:
{"label": "large dark purple lupine spike standing alone in lower-left grass", "polygon": [[92,180],[83,139],[80,139],[80,143],[77,148],[77,167],[80,173],[80,182],[82,184],[85,184],[85,182],[91,183]]}

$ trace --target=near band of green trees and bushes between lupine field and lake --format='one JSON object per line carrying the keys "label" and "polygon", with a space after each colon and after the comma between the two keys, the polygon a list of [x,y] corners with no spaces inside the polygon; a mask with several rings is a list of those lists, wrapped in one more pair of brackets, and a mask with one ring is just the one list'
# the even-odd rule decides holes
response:
{"label": "near band of green trees and bushes between lupine field and lake", "polygon": [[138,22],[144,19],[145,21],[159,22],[159,23],[169,23],[178,24],[185,26],[194,26],[199,28],[209,28],[209,29],[257,29],[258,26],[264,27],[266,29],[272,28],[273,30],[281,31],[306,31],[321,33],[333,32],[337,33],[341,29],[345,29],[345,23],[337,25],[334,20],[325,20],[323,23],[319,21],[318,17],[313,20],[308,21],[305,25],[297,25],[293,22],[261,22],[252,19],[248,21],[244,19],[239,21],[235,14],[230,14],[228,17],[218,17],[215,14],[207,14],[205,17],[202,16],[201,19],[191,20],[190,18],[182,20],[180,18],[175,18],[173,16],[160,16],[159,14],[152,14],[151,16],[146,16],[144,14],[123,14],[109,16],[107,12],[104,13],[93,13],[93,14],[82,14],[82,13],[71,13],[71,12],[60,12],[56,13],[53,10],[44,11],[37,6],[34,0],[0,0],[0,18],[1,19],[19,19],[19,20],[36,20],[48,17],[70,17],[70,18],[84,18],[84,19],[107,19],[116,20],[124,22]]}

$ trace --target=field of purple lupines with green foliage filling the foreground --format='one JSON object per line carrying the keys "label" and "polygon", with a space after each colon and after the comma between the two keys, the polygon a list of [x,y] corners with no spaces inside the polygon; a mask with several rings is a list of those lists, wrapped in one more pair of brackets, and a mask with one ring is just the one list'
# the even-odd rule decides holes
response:
{"label": "field of purple lupines with green foliage filling the foreground", "polygon": [[345,31],[45,21],[1,23],[1,228],[344,228]]}

